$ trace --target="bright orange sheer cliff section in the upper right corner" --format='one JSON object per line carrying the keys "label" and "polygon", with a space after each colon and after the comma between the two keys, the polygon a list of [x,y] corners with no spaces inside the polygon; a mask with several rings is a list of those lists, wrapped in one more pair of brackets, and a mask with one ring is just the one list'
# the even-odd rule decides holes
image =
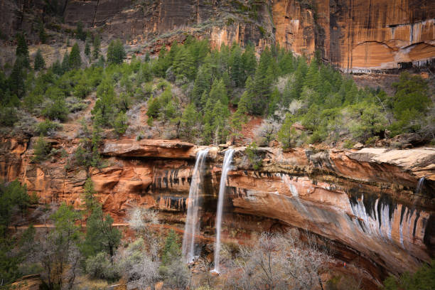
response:
{"label": "bright orange sheer cliff section in the upper right corner", "polygon": [[423,65],[435,56],[435,4],[425,0],[274,1],[276,39],[292,50],[315,47],[353,72]]}

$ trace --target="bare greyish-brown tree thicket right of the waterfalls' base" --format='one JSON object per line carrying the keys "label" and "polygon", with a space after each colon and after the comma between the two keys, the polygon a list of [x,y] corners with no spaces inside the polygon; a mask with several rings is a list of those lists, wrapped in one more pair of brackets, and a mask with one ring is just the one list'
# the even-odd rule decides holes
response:
{"label": "bare greyish-brown tree thicket right of the waterfalls' base", "polygon": [[226,254],[230,289],[315,289],[331,257],[307,235],[302,243],[294,232],[262,234],[254,247],[241,247],[236,257]]}

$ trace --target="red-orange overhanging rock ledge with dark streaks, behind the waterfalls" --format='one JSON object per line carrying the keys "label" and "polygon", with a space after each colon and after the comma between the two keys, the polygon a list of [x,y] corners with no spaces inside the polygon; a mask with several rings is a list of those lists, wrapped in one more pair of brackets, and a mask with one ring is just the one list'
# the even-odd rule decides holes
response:
{"label": "red-orange overhanging rock ledge with dark streaks, behind the waterfalls", "polygon": [[[73,152],[75,143],[51,140]],[[0,176],[18,178],[41,202],[80,208],[84,169],[65,170],[65,159],[30,162],[33,142],[1,142]],[[161,218],[183,228],[195,154],[202,147],[177,141],[107,141],[107,167],[92,169],[104,210],[122,221],[134,205],[159,209]],[[435,151],[262,149],[261,171],[249,168],[236,148],[225,199],[223,236],[247,241],[264,230],[296,227],[331,240],[340,259],[356,261],[374,281],[387,272],[416,269],[434,257]],[[223,153],[211,147],[204,178],[201,234],[214,235]],[[421,187],[417,183],[421,177]]]}

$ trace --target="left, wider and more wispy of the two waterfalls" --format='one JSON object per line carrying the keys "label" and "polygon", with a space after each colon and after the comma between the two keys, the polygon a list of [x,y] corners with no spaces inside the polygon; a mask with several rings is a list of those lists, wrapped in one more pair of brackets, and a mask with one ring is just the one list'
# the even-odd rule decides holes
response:
{"label": "left, wider and more wispy of the two waterfalls", "polygon": [[184,225],[183,235],[183,257],[186,262],[193,262],[195,259],[195,234],[199,232],[198,210],[200,181],[203,175],[205,157],[207,157],[208,149],[200,150],[196,154],[195,168],[193,169],[192,181],[190,181],[189,197],[188,197],[188,213],[186,224]]}

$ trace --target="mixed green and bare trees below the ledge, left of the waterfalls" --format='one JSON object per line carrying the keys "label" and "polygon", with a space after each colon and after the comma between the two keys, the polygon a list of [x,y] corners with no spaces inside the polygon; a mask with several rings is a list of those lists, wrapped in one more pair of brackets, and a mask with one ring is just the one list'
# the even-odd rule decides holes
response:
{"label": "mixed green and bare trees below the ledge, left of the waterfalls", "polygon": [[[1,289],[9,289],[26,274],[41,274],[40,289],[53,290],[83,289],[75,279],[85,274],[107,282],[124,277],[140,289],[154,289],[158,281],[178,289],[188,284],[190,272],[181,261],[178,235],[152,230],[149,225],[158,222],[156,213],[133,208],[128,222],[136,241],[121,245],[122,232],[112,217],[102,212],[90,179],[84,185],[82,210],[65,203],[38,205],[36,195],[29,196],[18,181],[0,183],[0,199]],[[16,230],[20,222],[29,219],[40,227]]]}

